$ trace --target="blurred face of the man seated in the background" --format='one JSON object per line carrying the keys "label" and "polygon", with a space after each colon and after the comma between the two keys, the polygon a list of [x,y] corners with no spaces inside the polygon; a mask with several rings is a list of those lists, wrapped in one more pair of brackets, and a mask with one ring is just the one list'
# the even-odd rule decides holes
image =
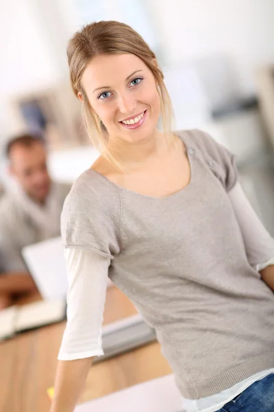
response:
{"label": "blurred face of the man seated in the background", "polygon": [[15,145],[10,152],[10,173],[36,202],[49,194],[51,179],[47,170],[47,153],[40,142],[25,147]]}

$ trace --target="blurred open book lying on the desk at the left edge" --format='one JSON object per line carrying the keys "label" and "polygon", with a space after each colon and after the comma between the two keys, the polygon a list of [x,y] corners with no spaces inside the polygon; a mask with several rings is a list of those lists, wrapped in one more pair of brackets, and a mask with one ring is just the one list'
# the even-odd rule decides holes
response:
{"label": "blurred open book lying on the desk at the left edge", "polygon": [[18,332],[38,328],[66,319],[66,301],[54,299],[24,306],[12,306],[0,311],[0,340]]}

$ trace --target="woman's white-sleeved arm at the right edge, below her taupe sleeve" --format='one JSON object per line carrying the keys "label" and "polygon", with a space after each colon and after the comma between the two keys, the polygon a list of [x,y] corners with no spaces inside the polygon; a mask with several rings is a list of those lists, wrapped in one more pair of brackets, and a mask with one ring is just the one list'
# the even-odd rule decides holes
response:
{"label": "woman's white-sleeved arm at the right edge, below her taupe sleeve", "polygon": [[274,290],[274,239],[251,207],[240,183],[228,192],[245,243],[249,263]]}

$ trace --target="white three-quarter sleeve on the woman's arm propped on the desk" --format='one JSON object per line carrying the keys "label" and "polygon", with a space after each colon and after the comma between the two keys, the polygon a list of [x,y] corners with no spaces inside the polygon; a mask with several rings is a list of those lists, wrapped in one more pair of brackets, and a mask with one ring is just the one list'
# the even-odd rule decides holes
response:
{"label": "white three-quarter sleeve on the woman's arm propped on the desk", "polygon": [[110,258],[86,249],[65,249],[69,289],[60,361],[103,355],[101,334]]}

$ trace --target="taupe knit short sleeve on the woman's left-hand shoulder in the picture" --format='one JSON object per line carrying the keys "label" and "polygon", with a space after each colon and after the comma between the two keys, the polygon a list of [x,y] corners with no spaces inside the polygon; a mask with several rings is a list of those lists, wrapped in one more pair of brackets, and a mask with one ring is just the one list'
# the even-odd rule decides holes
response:
{"label": "taupe knit short sleeve on the woman's left-hand shoulder in the picture", "polygon": [[65,247],[84,247],[109,257],[118,253],[119,193],[94,170],[83,172],[66,197],[61,214]]}

